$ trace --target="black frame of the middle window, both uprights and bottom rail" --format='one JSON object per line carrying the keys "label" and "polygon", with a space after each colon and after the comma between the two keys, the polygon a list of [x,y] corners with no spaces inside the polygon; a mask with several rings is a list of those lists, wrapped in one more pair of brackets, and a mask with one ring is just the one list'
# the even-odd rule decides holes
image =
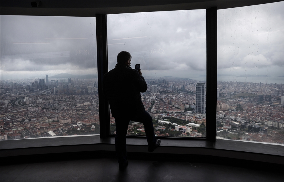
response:
{"label": "black frame of the middle window, both uprights and bottom rail", "polygon": [[[110,133],[109,103],[103,95],[103,75],[108,72],[107,59],[107,15],[96,14],[97,61],[99,84],[99,116],[101,138],[113,137]],[[217,95],[217,7],[206,9],[206,136],[205,137],[170,137],[157,136],[160,139],[186,139],[216,141],[216,95]],[[213,91],[212,91],[213,90]],[[103,102],[103,103],[102,103]],[[208,109],[210,108],[210,109]],[[215,109],[214,109],[215,108]],[[209,121],[209,122],[207,122]],[[146,136],[131,136],[141,138]]]}

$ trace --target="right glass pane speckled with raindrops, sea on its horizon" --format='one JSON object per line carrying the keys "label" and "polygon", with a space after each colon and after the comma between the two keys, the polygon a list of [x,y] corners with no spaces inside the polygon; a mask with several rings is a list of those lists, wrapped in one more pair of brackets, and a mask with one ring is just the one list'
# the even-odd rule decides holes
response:
{"label": "right glass pane speckled with raindrops, sea on its horizon", "polygon": [[216,136],[283,145],[283,1],[217,13]]}

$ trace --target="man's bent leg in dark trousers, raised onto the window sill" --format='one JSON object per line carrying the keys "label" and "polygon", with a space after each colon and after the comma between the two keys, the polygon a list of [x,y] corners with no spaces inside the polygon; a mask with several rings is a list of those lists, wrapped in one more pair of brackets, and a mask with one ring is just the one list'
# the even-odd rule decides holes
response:
{"label": "man's bent leg in dark trousers, raised onto the window sill", "polygon": [[153,119],[150,114],[144,110],[142,114],[131,118],[131,120],[141,122],[144,125],[148,146],[155,145],[157,139],[154,133]]}

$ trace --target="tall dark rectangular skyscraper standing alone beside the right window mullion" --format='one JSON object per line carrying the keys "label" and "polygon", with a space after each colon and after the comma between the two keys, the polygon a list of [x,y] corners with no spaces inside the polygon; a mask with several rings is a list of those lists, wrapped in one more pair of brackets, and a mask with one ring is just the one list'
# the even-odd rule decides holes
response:
{"label": "tall dark rectangular skyscraper standing alone beside the right window mullion", "polygon": [[196,93],[195,93],[195,111],[197,113],[205,112],[205,83],[196,84]]}

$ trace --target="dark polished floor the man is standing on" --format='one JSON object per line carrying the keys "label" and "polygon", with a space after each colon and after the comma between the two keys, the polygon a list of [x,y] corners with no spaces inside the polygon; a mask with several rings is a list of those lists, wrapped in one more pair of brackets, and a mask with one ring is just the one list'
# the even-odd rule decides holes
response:
{"label": "dark polished floor the man is standing on", "polygon": [[[214,163],[190,162],[188,158],[172,155],[169,158],[148,161],[130,159],[125,171],[119,171],[114,157],[82,159],[80,155],[70,160],[21,162],[1,164],[1,181],[283,181],[279,165],[241,163],[230,160]],[[170,159],[171,158],[171,159]],[[17,159],[21,160],[21,159]],[[22,159],[25,160],[25,159]],[[44,160],[44,159],[43,159]],[[196,160],[195,160],[196,161]],[[283,166],[280,166],[283,167]],[[273,172],[274,171],[274,172]]]}

